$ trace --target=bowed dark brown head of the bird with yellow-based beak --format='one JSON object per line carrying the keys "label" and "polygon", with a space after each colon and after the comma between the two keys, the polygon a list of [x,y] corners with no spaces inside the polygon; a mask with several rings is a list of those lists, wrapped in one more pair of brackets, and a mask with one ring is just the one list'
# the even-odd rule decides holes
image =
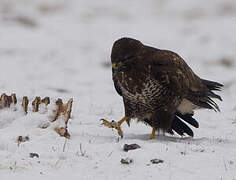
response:
{"label": "bowed dark brown head of the bird with yellow-based beak", "polygon": [[114,70],[129,68],[142,46],[140,41],[131,38],[121,38],[115,41],[111,51],[112,68]]}

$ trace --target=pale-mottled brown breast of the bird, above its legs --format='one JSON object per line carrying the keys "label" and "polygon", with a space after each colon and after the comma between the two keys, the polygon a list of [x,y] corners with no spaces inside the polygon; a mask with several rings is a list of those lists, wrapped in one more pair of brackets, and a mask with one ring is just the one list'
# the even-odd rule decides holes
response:
{"label": "pale-mottled brown breast of the bird, above its legs", "polygon": [[[130,86],[129,81],[137,81]],[[168,93],[166,89],[155,79],[147,77],[142,81],[127,79],[120,82],[125,103],[126,115],[137,117],[153,113],[157,108],[163,106],[163,97]],[[165,97],[164,97],[165,98]]]}

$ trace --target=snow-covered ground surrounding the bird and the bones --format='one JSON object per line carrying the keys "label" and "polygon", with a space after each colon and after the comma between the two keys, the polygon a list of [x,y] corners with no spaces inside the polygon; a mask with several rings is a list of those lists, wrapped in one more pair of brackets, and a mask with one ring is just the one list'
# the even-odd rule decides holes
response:
{"label": "snow-covered ground surrounding the bird and the bones", "polygon": [[[47,115],[0,110],[0,179],[236,180],[235,32],[234,0],[0,0],[0,93],[16,93],[19,103],[25,95],[74,99],[66,144],[38,128]],[[195,113],[194,138],[149,140],[151,128],[133,121],[118,141],[100,125],[124,115],[109,64],[123,36],[173,50],[202,78],[225,85],[220,113]],[[30,139],[18,145],[18,136]],[[141,148],[124,152],[130,143]],[[127,157],[133,163],[121,164]]]}

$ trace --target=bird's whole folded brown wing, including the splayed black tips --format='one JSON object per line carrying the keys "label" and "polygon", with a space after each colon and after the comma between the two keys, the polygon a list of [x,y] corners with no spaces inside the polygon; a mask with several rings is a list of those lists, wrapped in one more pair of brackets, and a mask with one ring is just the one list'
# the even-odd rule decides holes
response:
{"label": "bird's whole folded brown wing, including the splayed black tips", "polygon": [[220,91],[223,85],[199,78],[178,54],[156,50],[149,63],[153,77],[176,96],[186,98],[199,107],[220,111],[211,98],[222,100],[213,91]]}

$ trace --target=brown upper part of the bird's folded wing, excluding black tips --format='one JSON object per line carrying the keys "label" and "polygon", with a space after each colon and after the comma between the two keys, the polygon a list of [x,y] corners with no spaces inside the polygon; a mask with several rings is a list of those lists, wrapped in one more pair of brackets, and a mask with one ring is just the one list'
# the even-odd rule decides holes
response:
{"label": "brown upper part of the bird's folded wing, excluding black tips", "polygon": [[178,96],[186,96],[189,89],[199,91],[201,80],[176,53],[155,51],[151,58],[152,75]]}

